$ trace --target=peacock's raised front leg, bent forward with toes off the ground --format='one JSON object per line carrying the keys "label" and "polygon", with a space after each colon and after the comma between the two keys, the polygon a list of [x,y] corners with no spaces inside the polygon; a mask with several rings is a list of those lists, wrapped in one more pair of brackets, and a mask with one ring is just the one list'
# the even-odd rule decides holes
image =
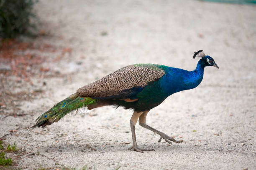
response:
{"label": "peacock's raised front leg, bent forward with toes off the ground", "polygon": [[164,138],[164,140],[168,143],[172,143],[171,141],[175,142],[175,143],[182,143],[183,140],[175,140],[174,138],[172,137],[169,137],[168,135],[166,135],[165,133],[162,133],[150,126],[148,126],[146,124],[146,116],[148,114],[148,111],[147,112],[143,112],[143,114],[139,117],[139,125],[141,125],[143,128],[146,128],[148,130],[151,130],[152,132],[154,133],[157,133],[158,135],[160,135],[160,139],[158,140],[158,142],[161,142],[162,138]]}

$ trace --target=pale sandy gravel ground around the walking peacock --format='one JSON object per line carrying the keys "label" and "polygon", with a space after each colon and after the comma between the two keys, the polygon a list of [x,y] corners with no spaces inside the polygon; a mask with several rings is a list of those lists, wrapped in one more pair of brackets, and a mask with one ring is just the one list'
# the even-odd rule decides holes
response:
{"label": "pale sandy gravel ground around the walking peacock", "polygon": [[59,62],[43,64],[64,76],[35,76],[33,86],[12,90],[39,88],[44,93],[15,101],[28,115],[6,117],[11,110],[2,108],[0,136],[28,127],[79,87],[126,65],[157,63],[194,70],[198,59],[193,60],[193,52],[203,49],[220,70],[207,67],[198,87],[168,97],[149,112],[148,125],[184,140],[182,144],[158,143],[158,135],[136,125],[138,145],[155,151],[129,151],[132,111],[102,107],[6,138],[5,144],[16,142],[21,149],[7,153],[15,160],[12,168],[256,169],[256,6],[41,0],[35,10],[46,36],[33,41],[70,47],[72,52]]}

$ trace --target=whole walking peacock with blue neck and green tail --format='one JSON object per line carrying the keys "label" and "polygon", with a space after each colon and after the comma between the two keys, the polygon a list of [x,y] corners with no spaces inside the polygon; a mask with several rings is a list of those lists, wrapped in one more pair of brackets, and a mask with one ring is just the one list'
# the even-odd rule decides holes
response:
{"label": "whole walking peacock with blue neck and green tail", "polygon": [[36,124],[28,130],[51,125],[69,112],[82,107],[91,110],[114,105],[134,110],[130,120],[133,145],[129,150],[141,153],[154,150],[138,147],[135,135],[137,121],[143,128],[160,135],[158,142],[164,139],[167,143],[181,143],[182,140],[175,140],[147,125],[146,116],[149,110],[160,105],[169,95],[197,87],[203,79],[206,66],[219,69],[212,57],[205,55],[202,50],[195,52],[193,58],[195,57],[200,57],[200,60],[193,71],[158,64],[134,64],[120,68],[100,80],[79,88],[77,92],[55,104],[40,115],[36,119]]}

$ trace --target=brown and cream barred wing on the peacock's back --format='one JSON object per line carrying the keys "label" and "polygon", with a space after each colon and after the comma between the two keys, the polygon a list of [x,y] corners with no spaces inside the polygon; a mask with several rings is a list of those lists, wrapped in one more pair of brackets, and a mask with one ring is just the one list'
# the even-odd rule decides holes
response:
{"label": "brown and cream barred wing on the peacock's back", "polygon": [[164,70],[158,66],[154,64],[128,65],[79,88],[77,94],[84,97],[118,96],[133,87],[145,87],[148,82],[156,81],[165,74]]}

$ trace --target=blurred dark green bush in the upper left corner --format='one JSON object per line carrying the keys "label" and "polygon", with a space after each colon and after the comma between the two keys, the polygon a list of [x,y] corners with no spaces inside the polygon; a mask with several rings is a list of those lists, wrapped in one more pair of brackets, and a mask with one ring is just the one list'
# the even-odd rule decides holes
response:
{"label": "blurred dark green bush in the upper left corner", "polygon": [[30,18],[36,0],[0,0],[0,37],[13,38],[33,27]]}

